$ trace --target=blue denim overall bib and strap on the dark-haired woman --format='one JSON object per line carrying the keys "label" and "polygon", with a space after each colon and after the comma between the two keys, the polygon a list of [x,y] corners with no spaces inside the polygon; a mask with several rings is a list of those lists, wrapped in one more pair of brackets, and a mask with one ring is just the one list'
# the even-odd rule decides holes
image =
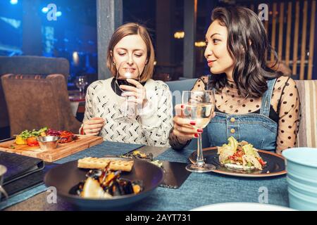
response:
{"label": "blue denim overall bib and strap on the dark-haired woman", "polygon": [[275,150],[278,124],[269,117],[275,80],[267,82],[268,89],[262,96],[260,113],[230,115],[216,112],[207,126],[211,146],[222,146],[233,136],[237,141],[251,143],[254,148]]}

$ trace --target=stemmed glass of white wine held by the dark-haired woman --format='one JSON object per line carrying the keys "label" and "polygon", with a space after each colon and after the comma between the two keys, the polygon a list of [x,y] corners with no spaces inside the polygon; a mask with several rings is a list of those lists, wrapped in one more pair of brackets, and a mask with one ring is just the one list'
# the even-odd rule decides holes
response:
{"label": "stemmed glass of white wine held by the dark-haired woman", "polygon": [[[194,129],[204,129],[209,124],[215,110],[215,93],[213,90],[206,91],[182,91],[182,105],[184,105],[184,117],[194,121]],[[201,134],[197,139],[197,160],[194,164],[187,165],[190,172],[211,172],[216,167],[204,162],[201,146]]]}

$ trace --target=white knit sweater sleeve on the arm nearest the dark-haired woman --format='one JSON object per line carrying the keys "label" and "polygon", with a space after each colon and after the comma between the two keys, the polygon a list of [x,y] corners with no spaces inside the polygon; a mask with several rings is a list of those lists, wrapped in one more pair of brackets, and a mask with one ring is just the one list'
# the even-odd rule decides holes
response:
{"label": "white knit sweater sleeve on the arm nearest the dark-haired woman", "polygon": [[147,90],[148,104],[139,112],[142,129],[149,146],[169,146],[168,135],[173,127],[173,103],[167,84],[155,81]]}

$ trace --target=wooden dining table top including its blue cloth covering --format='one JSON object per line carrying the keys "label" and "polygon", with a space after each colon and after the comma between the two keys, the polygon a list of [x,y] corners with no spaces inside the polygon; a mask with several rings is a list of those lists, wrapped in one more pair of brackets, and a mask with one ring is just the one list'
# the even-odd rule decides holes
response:
{"label": "wooden dining table top including its blue cloth covering", "polygon": [[[195,151],[191,148],[174,150],[168,147],[104,141],[97,146],[87,148],[52,164],[47,163],[46,170],[83,157],[122,155],[135,149],[142,153],[152,153],[155,160],[182,162],[184,167],[190,163],[189,155]],[[266,203],[289,207],[285,174],[270,177],[239,177],[208,172],[189,174],[179,188],[159,186],[146,198],[132,205],[131,210],[187,211],[214,203],[259,203],[263,190],[267,192]],[[48,195],[47,187],[42,183],[0,203],[0,210],[77,210],[75,206],[59,197],[56,202],[49,202]]]}

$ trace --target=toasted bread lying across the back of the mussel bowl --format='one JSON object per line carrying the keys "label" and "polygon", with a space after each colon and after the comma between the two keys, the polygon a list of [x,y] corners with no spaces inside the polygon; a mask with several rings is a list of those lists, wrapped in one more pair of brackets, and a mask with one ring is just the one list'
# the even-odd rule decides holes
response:
{"label": "toasted bread lying across the back of the mussel bowl", "polygon": [[133,160],[113,160],[108,158],[86,157],[78,160],[78,168],[82,169],[104,169],[108,164],[111,170],[122,170],[130,172],[133,167]]}

